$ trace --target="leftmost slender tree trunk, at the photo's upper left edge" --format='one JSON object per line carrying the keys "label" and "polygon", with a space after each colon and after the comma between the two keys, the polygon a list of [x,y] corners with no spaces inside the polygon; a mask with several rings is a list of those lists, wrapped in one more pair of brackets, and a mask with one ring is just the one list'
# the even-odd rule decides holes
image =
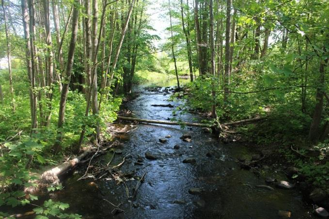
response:
{"label": "leftmost slender tree trunk, at the photo's upper left edge", "polygon": [[8,29],[8,24],[7,24],[7,13],[6,13],[6,10],[4,8],[4,0],[1,0],[1,6],[2,6],[2,10],[3,10],[4,29],[5,29],[5,32],[6,32],[7,59],[8,59],[8,73],[9,73],[10,94],[11,94],[11,98],[12,98],[13,112],[15,113],[16,104],[15,104],[14,87],[13,87],[13,72],[12,72],[11,48],[10,48],[10,41],[9,41],[9,29]]}

